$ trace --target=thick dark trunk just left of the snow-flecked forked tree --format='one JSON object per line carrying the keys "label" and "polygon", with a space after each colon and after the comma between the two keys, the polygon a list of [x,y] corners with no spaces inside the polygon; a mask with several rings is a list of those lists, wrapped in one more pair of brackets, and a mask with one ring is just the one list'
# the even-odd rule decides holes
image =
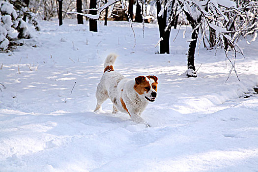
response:
{"label": "thick dark trunk just left of the snow-flecked forked tree", "polygon": [[[165,0],[165,4],[166,4]],[[161,11],[161,2],[157,1],[157,14]],[[160,54],[170,54],[170,31],[171,28],[166,29],[167,27],[167,10],[164,10],[163,15],[158,16],[158,25],[159,25],[159,35],[160,38],[163,37],[163,40],[160,41]]]}

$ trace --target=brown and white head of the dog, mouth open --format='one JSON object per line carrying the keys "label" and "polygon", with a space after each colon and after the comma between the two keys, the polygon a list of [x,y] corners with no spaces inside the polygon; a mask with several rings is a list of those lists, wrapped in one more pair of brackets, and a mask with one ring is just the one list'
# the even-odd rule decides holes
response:
{"label": "brown and white head of the dog, mouth open", "polygon": [[135,78],[135,91],[150,102],[157,98],[158,78],[154,75],[139,76]]}

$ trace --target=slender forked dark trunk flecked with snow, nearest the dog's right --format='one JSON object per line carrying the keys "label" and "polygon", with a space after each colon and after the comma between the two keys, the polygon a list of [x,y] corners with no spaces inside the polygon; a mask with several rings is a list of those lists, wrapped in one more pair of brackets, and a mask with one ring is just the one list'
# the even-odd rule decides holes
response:
{"label": "slender forked dark trunk flecked with snow, nearest the dog's right", "polygon": [[[185,14],[186,14],[187,20],[189,21],[189,23],[191,24],[192,29],[193,29],[192,36],[191,36],[192,41],[190,42],[189,49],[188,49],[187,68],[192,69],[193,72],[195,72],[196,71],[196,69],[195,69],[195,49],[196,49],[198,33],[199,33],[199,29],[200,29],[200,27],[197,28],[197,26],[201,22],[201,16],[197,20],[194,20],[192,18],[192,16],[189,13],[187,13],[186,11],[185,11]],[[194,75],[187,75],[187,77],[197,77],[197,75],[195,73]]]}

